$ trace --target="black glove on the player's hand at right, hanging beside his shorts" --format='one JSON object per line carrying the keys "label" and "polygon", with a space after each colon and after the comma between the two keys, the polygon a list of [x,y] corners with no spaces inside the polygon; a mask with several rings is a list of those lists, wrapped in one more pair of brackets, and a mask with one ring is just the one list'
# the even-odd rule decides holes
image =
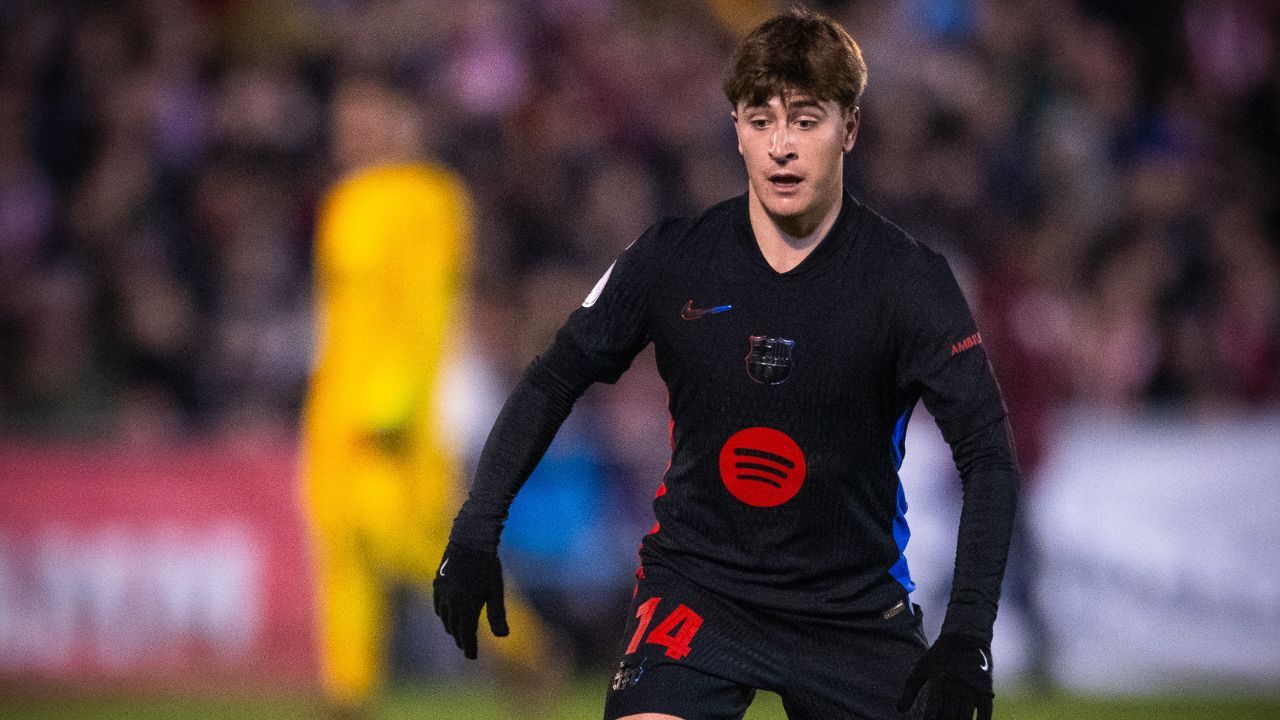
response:
{"label": "black glove on the player's hand at right, hanging beside his shorts", "polygon": [[991,644],[960,633],[940,635],[908,675],[899,712],[911,710],[925,683],[924,720],[972,720],[974,710],[978,720],[991,720]]}

